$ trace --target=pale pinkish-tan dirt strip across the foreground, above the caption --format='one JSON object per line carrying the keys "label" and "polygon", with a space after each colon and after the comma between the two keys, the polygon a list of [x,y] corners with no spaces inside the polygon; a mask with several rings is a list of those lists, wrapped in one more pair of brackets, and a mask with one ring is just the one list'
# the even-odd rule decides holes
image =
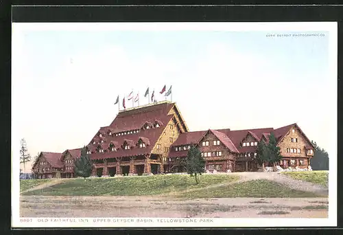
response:
{"label": "pale pinkish-tan dirt strip across the foreground, above the caption", "polygon": [[326,218],[327,198],[21,196],[22,217]]}

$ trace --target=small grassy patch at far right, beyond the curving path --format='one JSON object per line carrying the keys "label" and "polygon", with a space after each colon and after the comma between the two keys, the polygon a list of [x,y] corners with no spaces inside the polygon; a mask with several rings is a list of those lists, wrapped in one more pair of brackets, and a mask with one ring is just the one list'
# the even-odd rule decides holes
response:
{"label": "small grassy patch at far right, beyond the curving path", "polygon": [[322,186],[327,186],[329,183],[329,172],[327,170],[312,170],[312,171],[298,171],[298,172],[282,172],[283,174],[299,179],[308,181],[310,183],[317,183]]}

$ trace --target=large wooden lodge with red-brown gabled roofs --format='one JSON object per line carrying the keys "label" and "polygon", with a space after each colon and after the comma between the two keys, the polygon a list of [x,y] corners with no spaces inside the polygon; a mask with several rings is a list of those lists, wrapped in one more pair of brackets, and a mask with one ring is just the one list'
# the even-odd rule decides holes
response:
{"label": "large wooden lodge with red-brown gabled roofs", "polygon": [[[94,177],[185,172],[187,150],[200,148],[206,170],[257,171],[257,143],[274,133],[281,148],[282,168],[307,168],[314,146],[297,124],[281,128],[231,131],[229,128],[189,131],[176,103],[163,101],[119,111],[115,120],[86,146]],[[75,177],[73,161],[80,148],[64,153],[42,152],[33,166],[38,179]]]}

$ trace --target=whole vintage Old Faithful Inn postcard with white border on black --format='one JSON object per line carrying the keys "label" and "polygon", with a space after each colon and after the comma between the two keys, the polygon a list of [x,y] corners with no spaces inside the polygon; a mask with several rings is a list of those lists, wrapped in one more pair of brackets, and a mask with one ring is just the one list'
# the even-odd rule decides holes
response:
{"label": "whole vintage Old Faithful Inn postcard with white border on black", "polygon": [[12,23],[12,227],[333,226],[336,150],[337,23]]}

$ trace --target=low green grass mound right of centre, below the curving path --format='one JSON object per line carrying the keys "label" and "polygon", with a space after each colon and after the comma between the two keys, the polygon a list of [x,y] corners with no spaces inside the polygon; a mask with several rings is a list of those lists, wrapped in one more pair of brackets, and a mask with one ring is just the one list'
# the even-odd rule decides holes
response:
{"label": "low green grass mound right of centre, below the curving path", "polygon": [[187,199],[219,197],[319,197],[311,192],[293,190],[274,181],[257,179],[229,186],[182,193],[178,197]]}

